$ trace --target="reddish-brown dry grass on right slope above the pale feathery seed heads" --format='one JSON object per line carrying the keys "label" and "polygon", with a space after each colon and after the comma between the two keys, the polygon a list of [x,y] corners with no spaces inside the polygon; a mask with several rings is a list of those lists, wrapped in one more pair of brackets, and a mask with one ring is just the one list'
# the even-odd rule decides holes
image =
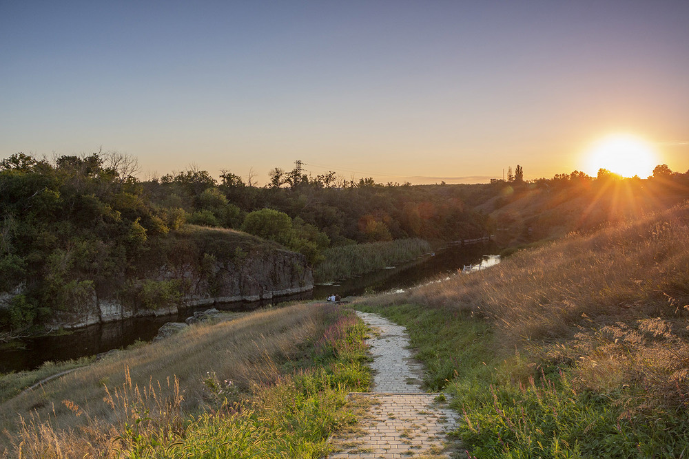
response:
{"label": "reddish-brown dry grass on right slope above the pale feathery seed heads", "polygon": [[689,206],[593,235],[570,235],[397,299],[410,300],[482,314],[510,345],[570,337],[573,325],[599,317],[683,319],[689,303]]}

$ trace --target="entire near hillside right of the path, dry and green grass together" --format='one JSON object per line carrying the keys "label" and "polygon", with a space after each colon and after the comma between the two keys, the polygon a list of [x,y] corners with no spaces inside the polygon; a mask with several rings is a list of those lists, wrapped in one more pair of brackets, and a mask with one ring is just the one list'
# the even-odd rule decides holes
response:
{"label": "entire near hillside right of the path, dry and green grass together", "polygon": [[477,457],[686,456],[688,247],[682,204],[362,305],[407,325]]}

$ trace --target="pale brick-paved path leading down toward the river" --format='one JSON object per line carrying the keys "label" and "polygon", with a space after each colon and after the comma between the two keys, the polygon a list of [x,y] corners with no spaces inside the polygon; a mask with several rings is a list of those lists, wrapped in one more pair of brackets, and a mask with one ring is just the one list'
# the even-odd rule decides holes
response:
{"label": "pale brick-paved path leading down toward the river", "polygon": [[446,407],[443,394],[422,392],[423,367],[411,355],[404,327],[377,314],[357,314],[376,335],[368,341],[373,385],[372,392],[350,396],[367,399],[371,409],[358,436],[333,440],[340,451],[329,458],[447,458],[458,452],[445,437],[457,414]]}

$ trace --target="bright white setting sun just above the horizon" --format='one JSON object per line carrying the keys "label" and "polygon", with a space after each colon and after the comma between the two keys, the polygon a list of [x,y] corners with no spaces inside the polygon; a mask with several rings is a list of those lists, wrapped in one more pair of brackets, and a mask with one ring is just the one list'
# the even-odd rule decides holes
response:
{"label": "bright white setting sun just above the horizon", "polygon": [[623,177],[646,178],[659,162],[657,151],[646,140],[631,134],[612,134],[590,146],[586,164],[586,172],[594,176],[599,169],[608,169]]}

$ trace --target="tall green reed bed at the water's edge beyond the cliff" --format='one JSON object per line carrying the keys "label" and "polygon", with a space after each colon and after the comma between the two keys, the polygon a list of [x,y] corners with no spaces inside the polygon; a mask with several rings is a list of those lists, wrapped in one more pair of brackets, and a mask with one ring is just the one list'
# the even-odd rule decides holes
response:
{"label": "tall green reed bed at the water's edge beyond the cliff", "polygon": [[349,279],[429,253],[431,244],[422,239],[397,239],[338,246],[324,250],[325,257],[313,268],[317,282]]}

